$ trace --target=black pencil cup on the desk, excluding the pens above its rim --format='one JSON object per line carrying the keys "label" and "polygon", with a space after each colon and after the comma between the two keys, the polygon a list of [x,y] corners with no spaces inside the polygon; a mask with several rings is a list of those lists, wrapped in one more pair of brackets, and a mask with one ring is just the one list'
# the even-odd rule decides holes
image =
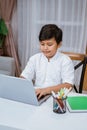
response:
{"label": "black pencil cup on the desk, excluding the pens above its rim", "polygon": [[53,112],[63,114],[66,112],[66,98],[53,98]]}

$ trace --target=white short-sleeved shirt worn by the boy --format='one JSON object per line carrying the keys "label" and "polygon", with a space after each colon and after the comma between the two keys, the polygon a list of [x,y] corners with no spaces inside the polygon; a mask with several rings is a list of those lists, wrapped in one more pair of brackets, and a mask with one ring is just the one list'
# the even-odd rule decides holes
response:
{"label": "white short-sleeved shirt worn by the boy", "polygon": [[74,84],[74,66],[71,59],[57,51],[48,61],[43,53],[32,56],[21,76],[35,80],[37,87],[49,87],[61,83]]}

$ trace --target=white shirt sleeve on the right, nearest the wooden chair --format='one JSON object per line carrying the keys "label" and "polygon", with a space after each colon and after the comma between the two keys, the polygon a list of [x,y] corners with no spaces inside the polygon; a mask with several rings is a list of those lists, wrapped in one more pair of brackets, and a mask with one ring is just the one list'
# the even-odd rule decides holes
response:
{"label": "white shirt sleeve on the right, nearest the wooden chair", "polygon": [[74,85],[74,65],[69,57],[65,57],[62,64],[62,83],[70,83]]}

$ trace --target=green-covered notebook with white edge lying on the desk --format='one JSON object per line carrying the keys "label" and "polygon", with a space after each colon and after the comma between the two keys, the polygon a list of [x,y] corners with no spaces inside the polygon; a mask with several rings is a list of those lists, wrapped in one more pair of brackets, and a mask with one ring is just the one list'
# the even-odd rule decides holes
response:
{"label": "green-covered notebook with white edge lying on the desk", "polygon": [[87,96],[70,96],[67,98],[67,107],[70,112],[87,112]]}

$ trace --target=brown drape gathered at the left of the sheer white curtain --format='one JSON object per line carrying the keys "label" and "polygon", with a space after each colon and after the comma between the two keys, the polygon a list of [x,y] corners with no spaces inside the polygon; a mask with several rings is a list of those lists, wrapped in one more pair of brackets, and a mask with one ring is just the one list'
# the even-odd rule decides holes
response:
{"label": "brown drape gathered at the left of the sheer white curtain", "polygon": [[5,40],[5,55],[14,57],[16,64],[16,76],[20,75],[20,64],[18,55],[15,49],[15,42],[13,38],[11,20],[14,7],[16,6],[16,0],[0,0],[0,13],[1,17],[5,20],[8,28],[8,35]]}

